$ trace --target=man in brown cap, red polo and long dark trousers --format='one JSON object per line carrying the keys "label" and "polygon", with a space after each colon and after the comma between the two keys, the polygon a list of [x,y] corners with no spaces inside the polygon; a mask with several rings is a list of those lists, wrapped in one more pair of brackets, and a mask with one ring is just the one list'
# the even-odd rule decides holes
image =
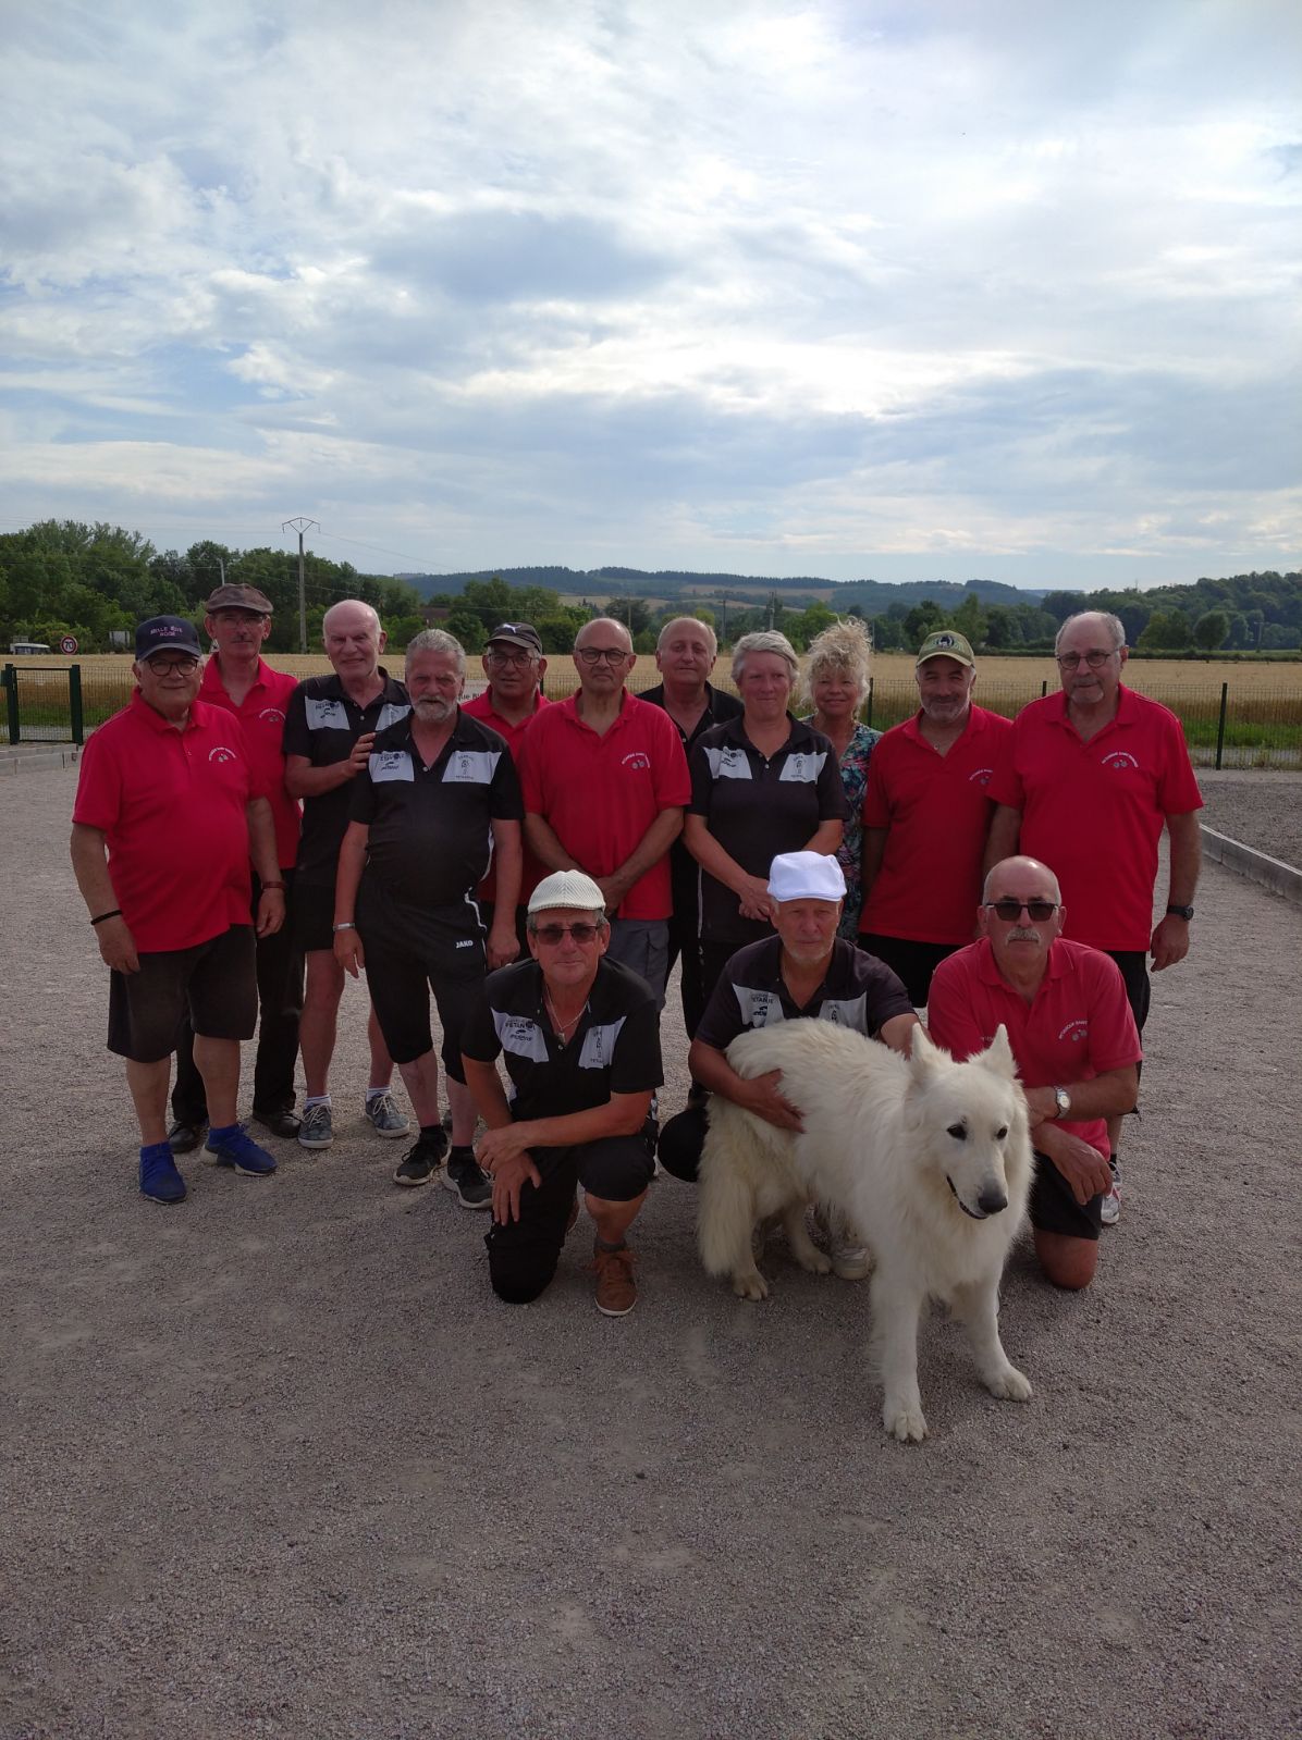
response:
{"label": "man in brown cap, red polo and long dark trousers", "polygon": [[[298,679],[272,670],[261,647],[272,632],[272,600],[256,586],[218,586],[207,600],[204,630],[214,652],[204,665],[200,701],[235,713],[259,790],[266,792],[275,823],[275,854],[285,903],[292,901],[294,858],[303,811],[285,792],[285,706]],[[261,886],[254,877],[252,905],[258,908]],[[292,1140],[299,1121],[294,1115],[294,1060],[298,1058],[298,1018],[303,1011],[303,950],[294,943],[291,924],[258,938],[258,1054],[252,1068],[252,1117],[273,1136]],[[186,1154],[204,1140],[207,1105],[204,1079],[195,1068],[190,1023],[181,1028],[176,1046],[176,1082],[172,1084],[172,1128],[167,1140],[172,1154]]]}

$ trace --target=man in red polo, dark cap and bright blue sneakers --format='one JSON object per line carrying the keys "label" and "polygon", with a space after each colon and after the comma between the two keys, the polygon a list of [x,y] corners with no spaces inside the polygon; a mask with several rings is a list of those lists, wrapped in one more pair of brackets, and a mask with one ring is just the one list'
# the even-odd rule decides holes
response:
{"label": "man in red polo, dark cap and bright blue sneakers", "polygon": [[171,1054],[186,1011],[211,1112],[204,1159],[254,1178],[275,1171],[235,1119],[240,1041],[258,1018],[251,856],[259,936],[284,924],[285,896],[272,806],[238,720],[198,699],[200,666],[193,623],[141,623],[139,687],[87,743],[73,809],[73,872],[111,973],[108,1049],[127,1061],[139,1187],[151,1202],[186,1195],[167,1143]]}

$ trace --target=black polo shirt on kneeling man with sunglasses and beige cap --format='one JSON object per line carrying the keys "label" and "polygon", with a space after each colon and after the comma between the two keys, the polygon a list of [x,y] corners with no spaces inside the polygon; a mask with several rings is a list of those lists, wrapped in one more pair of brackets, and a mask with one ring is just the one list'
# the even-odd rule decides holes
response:
{"label": "black polo shirt on kneeling man with sunglasses and beige cap", "polygon": [[543,969],[519,960],[484,980],[461,1028],[461,1051],[475,1063],[505,1054],[517,1119],[588,1112],[613,1093],[654,1093],[665,1081],[651,987],[607,955],[564,1046],[543,1007]]}

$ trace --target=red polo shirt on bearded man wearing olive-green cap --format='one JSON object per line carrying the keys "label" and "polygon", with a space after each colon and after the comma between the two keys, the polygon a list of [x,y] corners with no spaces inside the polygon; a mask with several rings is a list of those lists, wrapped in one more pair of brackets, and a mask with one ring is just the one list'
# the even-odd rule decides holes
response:
{"label": "red polo shirt on bearded man wearing olive-green cap", "polygon": [[889,832],[858,927],[910,943],[968,943],[994,807],[985,788],[1011,724],[971,706],[963,736],[942,755],[921,719],[905,719],[872,750],[863,826]]}

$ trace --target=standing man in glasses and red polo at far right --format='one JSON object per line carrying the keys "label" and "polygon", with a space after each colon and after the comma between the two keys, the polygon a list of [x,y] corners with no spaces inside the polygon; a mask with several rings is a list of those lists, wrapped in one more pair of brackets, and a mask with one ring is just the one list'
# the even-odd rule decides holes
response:
{"label": "standing man in glasses and red polo at far right", "polygon": [[[1149,954],[1154,973],[1189,954],[1203,799],[1180,720],[1121,682],[1130,654],[1119,618],[1069,616],[1053,651],[1062,693],[1023,706],[1004,740],[989,788],[997,809],[985,861],[1022,851],[1053,865],[1070,934],[1112,955],[1144,1032]],[[1154,926],[1163,825],[1171,865],[1166,914]],[[1109,1121],[1109,1134],[1114,1176],[1104,1225],[1121,1213],[1121,1115]]]}

